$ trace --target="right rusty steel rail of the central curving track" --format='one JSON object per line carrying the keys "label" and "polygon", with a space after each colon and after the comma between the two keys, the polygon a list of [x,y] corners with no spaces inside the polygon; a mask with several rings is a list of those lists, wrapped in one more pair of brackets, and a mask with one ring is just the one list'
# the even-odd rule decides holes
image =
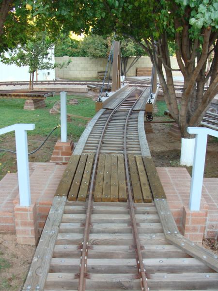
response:
{"label": "right rusty steel rail of the central curving track", "polygon": [[125,121],[125,130],[124,130],[125,172],[126,172],[126,180],[127,180],[130,217],[131,217],[131,220],[132,220],[132,231],[133,231],[133,236],[134,236],[134,240],[135,240],[135,243],[136,243],[137,267],[138,267],[138,272],[139,272],[140,278],[141,278],[141,281],[140,281],[141,290],[142,291],[149,291],[148,284],[147,284],[147,278],[146,278],[146,274],[145,274],[144,263],[143,263],[143,257],[142,257],[142,254],[141,254],[140,238],[139,238],[137,222],[136,222],[136,216],[135,216],[135,211],[134,211],[134,204],[133,204],[133,199],[132,199],[132,191],[131,191],[130,177],[129,177],[129,171],[128,171],[128,157],[127,157],[127,149],[126,149],[127,122],[128,122],[129,115],[132,113],[135,104],[130,109],[130,111],[129,111],[127,117],[126,117],[126,121]]}

